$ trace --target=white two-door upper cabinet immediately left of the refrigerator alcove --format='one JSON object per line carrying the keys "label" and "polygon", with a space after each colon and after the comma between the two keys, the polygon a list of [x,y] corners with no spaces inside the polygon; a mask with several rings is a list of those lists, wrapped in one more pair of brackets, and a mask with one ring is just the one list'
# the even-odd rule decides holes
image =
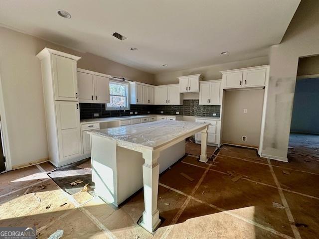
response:
{"label": "white two-door upper cabinet immediately left of the refrigerator alcove", "polygon": [[220,103],[220,81],[201,82],[199,105],[219,105]]}

